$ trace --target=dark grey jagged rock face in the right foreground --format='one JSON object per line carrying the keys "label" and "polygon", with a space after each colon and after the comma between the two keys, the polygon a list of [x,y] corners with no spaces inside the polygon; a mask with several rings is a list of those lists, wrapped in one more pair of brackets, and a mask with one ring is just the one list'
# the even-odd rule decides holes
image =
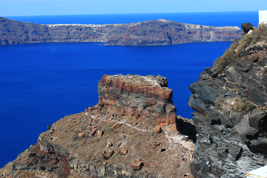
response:
{"label": "dark grey jagged rock face in the right foreground", "polygon": [[[197,143],[191,173],[194,177],[246,177],[245,173],[266,165],[267,156],[267,69],[266,52],[260,51],[227,66],[223,73],[206,68],[189,86],[188,105],[196,112]],[[221,96],[227,103],[214,108]],[[252,113],[239,114],[231,105],[248,98]]]}

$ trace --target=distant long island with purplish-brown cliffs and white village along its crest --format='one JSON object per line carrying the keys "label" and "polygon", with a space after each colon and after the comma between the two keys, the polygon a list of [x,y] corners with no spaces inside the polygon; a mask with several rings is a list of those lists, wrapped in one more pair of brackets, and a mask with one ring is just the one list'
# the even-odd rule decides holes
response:
{"label": "distant long island with purplish-brown cliffs and white village along its crest", "polygon": [[119,24],[50,24],[0,17],[0,45],[41,42],[105,42],[105,45],[174,45],[199,41],[234,41],[243,30],[164,19]]}

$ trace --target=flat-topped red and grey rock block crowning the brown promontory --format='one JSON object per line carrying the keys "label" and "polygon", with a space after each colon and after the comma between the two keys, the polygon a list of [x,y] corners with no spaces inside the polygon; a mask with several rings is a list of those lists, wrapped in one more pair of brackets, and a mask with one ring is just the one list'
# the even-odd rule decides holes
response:
{"label": "flat-topped red and grey rock block crowning the brown promontory", "polygon": [[156,117],[158,123],[175,124],[172,89],[161,76],[134,77],[104,75],[98,84],[99,102],[117,106],[121,115]]}

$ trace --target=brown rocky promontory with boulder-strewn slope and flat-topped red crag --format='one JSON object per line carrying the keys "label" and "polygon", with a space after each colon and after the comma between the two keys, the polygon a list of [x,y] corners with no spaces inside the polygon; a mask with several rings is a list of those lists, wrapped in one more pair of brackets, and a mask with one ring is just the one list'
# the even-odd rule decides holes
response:
{"label": "brown rocky promontory with boulder-strewn slope and flat-topped red crag", "polygon": [[[124,87],[117,86],[119,84]],[[137,88],[147,90],[147,95],[135,90]],[[0,169],[0,175],[7,178],[193,177],[189,163],[194,143],[181,133],[186,127],[192,129],[191,121],[178,116],[176,121],[183,126],[178,132],[175,123],[158,123],[156,113],[152,116],[157,111],[156,101],[161,102],[159,106],[162,107],[171,101],[172,90],[167,88],[166,78],[104,75],[98,91],[98,104],[55,122],[40,134],[35,145]],[[122,95],[115,97],[116,94]],[[131,96],[132,103],[128,102],[129,107],[122,110],[121,97]],[[142,110],[144,103],[139,99],[151,101],[152,105],[147,106],[153,111],[151,115],[146,108],[143,112],[148,114],[140,118],[128,112],[133,106],[138,108],[135,112]],[[158,116],[163,114],[158,113]]]}

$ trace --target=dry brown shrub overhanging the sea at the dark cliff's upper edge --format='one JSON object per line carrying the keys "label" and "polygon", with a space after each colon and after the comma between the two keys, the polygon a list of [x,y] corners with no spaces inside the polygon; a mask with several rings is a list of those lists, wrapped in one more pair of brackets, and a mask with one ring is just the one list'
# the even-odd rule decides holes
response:
{"label": "dry brown shrub overhanging the sea at the dark cliff's upper edge", "polygon": [[237,44],[232,43],[221,57],[216,58],[212,66],[214,72],[222,72],[227,65],[236,61],[238,58],[238,52],[235,50],[236,48]]}

